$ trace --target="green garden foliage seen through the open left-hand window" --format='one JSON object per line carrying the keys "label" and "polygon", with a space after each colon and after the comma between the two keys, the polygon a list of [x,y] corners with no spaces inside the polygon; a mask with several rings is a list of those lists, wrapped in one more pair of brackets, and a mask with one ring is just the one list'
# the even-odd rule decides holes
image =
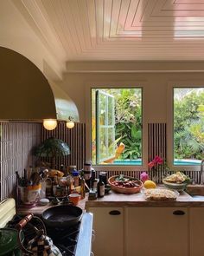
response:
{"label": "green garden foliage seen through the open left-hand window", "polygon": [[[96,157],[96,141],[97,135],[96,131],[99,131],[99,135],[102,136],[102,122],[100,121],[100,126],[97,129],[97,118],[95,107],[96,102],[96,92],[97,90],[101,93],[112,95],[114,97],[114,125],[115,125],[115,140],[109,141],[110,147],[115,149],[118,147],[120,142],[124,143],[124,152],[118,157],[121,160],[136,160],[142,158],[142,89],[92,89],[92,162],[96,162],[96,158],[103,159],[103,155]],[[103,104],[103,101],[99,102]],[[108,105],[111,105],[110,102]],[[112,107],[111,107],[112,108]],[[103,106],[101,105],[101,109]],[[107,112],[108,120],[111,112]],[[101,118],[103,113],[100,112]],[[112,125],[112,123],[109,123]],[[102,137],[99,139],[102,145],[99,147],[102,148],[105,143],[105,139]],[[112,150],[106,150],[106,152],[112,152]],[[111,155],[110,155],[111,157]]]}

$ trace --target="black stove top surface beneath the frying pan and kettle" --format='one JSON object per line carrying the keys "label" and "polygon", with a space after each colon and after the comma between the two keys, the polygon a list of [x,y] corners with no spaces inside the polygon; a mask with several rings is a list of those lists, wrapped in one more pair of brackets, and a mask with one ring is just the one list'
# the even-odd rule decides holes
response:
{"label": "black stove top surface beneath the frying pan and kettle", "polygon": [[[22,215],[15,215],[13,220],[10,220],[7,223],[7,227],[15,228],[16,224],[22,220],[23,217],[24,216]],[[24,246],[27,246],[29,240],[32,240],[35,237],[36,233],[34,226],[38,229],[41,229],[41,221],[39,221],[38,218],[33,218],[26,226],[22,228],[22,232],[24,233],[25,237]],[[81,221],[79,221],[74,226],[69,226],[66,228],[46,226],[48,237],[53,240],[54,246],[59,248],[63,256],[75,255],[80,234],[80,226]]]}

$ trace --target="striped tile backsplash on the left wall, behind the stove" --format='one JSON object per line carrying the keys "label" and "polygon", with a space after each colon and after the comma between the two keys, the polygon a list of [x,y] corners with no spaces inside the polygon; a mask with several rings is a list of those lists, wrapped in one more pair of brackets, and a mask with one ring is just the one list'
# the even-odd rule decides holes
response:
{"label": "striped tile backsplash on the left wall, behind the stove", "polygon": [[15,196],[16,171],[33,165],[32,149],[41,141],[41,124],[0,122],[0,198]]}

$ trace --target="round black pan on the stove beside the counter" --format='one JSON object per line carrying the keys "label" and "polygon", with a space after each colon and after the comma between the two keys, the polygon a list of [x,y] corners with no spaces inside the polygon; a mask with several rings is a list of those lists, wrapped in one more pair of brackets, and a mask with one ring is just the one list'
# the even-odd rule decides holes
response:
{"label": "round black pan on the stove beside the counter", "polygon": [[57,206],[45,210],[41,217],[47,226],[67,227],[73,226],[82,218],[80,207]]}

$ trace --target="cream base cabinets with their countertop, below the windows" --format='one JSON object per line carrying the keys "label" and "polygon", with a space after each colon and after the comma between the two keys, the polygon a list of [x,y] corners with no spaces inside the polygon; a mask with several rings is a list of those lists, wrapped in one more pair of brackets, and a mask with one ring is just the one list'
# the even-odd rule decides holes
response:
{"label": "cream base cabinets with their countertop, below the windows", "polygon": [[110,192],[86,201],[97,256],[199,256],[204,251],[204,200],[185,192],[174,201]]}

